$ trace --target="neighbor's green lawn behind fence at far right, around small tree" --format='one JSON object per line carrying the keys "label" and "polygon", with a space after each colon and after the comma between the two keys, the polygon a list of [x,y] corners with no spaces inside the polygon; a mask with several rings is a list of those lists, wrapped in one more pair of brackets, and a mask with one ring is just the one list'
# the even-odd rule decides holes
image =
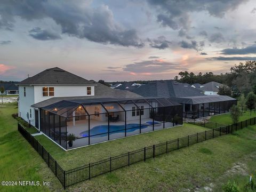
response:
{"label": "neighbor's green lawn behind fence at far right, around small tree", "polygon": [[[247,111],[244,111],[242,116],[239,118],[239,121],[244,121],[245,119],[249,119],[249,118],[252,118],[255,116],[256,116],[256,113],[254,113],[254,111],[252,111],[252,114],[250,114],[250,111],[247,110]],[[233,124],[229,114],[212,116],[210,118],[210,121],[222,123],[222,124],[226,124],[226,125]]]}

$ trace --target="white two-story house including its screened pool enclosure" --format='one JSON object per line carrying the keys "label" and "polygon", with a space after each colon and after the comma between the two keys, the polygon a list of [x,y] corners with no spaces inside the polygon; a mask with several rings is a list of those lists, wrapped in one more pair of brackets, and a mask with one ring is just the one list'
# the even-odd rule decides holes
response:
{"label": "white two-story house including its screened pool enclosure", "polygon": [[58,67],[23,80],[19,92],[19,116],[65,150],[182,125],[178,102],[111,89]]}

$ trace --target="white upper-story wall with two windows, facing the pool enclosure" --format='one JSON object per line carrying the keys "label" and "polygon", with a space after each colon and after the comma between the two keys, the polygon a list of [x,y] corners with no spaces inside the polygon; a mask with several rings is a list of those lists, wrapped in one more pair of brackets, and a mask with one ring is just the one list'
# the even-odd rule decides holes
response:
{"label": "white upper-story wall with two windows, facing the pool enclosure", "polygon": [[[87,95],[87,87],[84,85],[47,85],[47,87],[54,87],[54,96],[43,97],[43,87],[36,85],[35,87],[35,103],[44,101],[46,99],[50,99],[53,97],[78,97],[78,96],[86,96]],[[94,95],[94,86],[92,87],[91,95]]]}

